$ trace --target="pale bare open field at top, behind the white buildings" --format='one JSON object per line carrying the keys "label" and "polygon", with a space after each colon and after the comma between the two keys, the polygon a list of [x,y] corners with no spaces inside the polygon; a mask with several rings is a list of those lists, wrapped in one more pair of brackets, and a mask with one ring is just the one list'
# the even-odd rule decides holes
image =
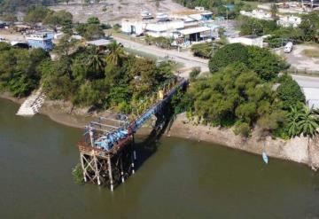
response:
{"label": "pale bare open field at top, behind the white buildings", "polygon": [[51,10],[66,10],[74,15],[74,21],[85,22],[91,16],[96,16],[104,23],[119,23],[122,19],[137,19],[140,12],[147,10],[156,12],[173,12],[185,9],[182,5],[176,4],[173,0],[159,1],[159,6],[154,0],[107,0],[99,4],[79,4],[73,2],[69,5],[59,4],[51,6]]}

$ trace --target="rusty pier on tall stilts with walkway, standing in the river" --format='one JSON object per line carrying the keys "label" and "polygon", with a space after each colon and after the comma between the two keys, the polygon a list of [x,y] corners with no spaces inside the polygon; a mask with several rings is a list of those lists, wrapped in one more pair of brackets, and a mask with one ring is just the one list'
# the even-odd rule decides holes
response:
{"label": "rusty pier on tall stilts with walkway, standing in the river", "polygon": [[177,90],[186,85],[185,79],[172,78],[152,97],[145,98],[142,106],[136,106],[129,116],[114,114],[89,122],[78,143],[84,181],[106,185],[113,191],[134,174],[134,134],[153,115],[162,116]]}

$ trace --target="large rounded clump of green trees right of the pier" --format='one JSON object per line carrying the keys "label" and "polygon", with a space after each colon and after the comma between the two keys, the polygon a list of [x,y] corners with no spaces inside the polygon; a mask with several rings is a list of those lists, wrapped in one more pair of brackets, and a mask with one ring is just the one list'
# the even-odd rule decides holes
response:
{"label": "large rounded clump of green trees right of the pier", "polygon": [[305,97],[290,76],[278,76],[285,67],[265,49],[226,45],[210,59],[212,74],[191,82],[179,107],[198,122],[234,127],[246,137],[256,125],[277,137],[292,136],[288,113],[292,106],[301,110]]}

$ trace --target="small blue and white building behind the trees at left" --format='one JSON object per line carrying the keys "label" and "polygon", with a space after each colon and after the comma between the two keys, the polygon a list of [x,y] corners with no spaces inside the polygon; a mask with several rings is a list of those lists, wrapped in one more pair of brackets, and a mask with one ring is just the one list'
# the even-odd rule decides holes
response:
{"label": "small blue and white building behind the trees at left", "polygon": [[27,43],[32,48],[42,48],[45,51],[51,51],[53,49],[52,33],[35,33],[27,35]]}

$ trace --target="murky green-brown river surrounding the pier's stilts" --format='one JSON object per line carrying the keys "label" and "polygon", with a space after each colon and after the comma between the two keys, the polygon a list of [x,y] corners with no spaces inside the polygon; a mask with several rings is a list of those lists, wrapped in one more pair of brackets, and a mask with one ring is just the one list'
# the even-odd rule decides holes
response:
{"label": "murky green-brown river surrounding the pier's stilts", "polygon": [[0,109],[0,218],[319,218],[306,166],[174,137],[114,192],[74,184],[82,130]]}

